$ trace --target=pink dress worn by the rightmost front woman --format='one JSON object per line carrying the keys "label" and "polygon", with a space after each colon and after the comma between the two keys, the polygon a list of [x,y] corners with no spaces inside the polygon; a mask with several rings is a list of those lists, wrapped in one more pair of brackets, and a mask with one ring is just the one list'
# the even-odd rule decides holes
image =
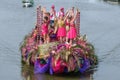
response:
{"label": "pink dress worn by the rightmost front woman", "polygon": [[70,30],[68,31],[68,39],[74,39],[76,38],[76,28],[75,28],[75,24],[70,24]]}

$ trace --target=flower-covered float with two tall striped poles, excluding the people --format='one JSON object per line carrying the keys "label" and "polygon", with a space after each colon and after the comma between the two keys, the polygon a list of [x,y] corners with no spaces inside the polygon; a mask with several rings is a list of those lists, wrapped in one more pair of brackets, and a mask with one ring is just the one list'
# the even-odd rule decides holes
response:
{"label": "flower-covered float with two tall striped poles, excluding the people", "polygon": [[33,66],[37,73],[84,73],[98,64],[94,46],[87,41],[86,35],[80,34],[80,11],[75,20],[77,37],[74,44],[60,42],[56,34],[49,33],[50,42],[43,43],[41,25],[43,11],[37,8],[37,23],[35,29],[25,36],[20,50],[22,64]]}

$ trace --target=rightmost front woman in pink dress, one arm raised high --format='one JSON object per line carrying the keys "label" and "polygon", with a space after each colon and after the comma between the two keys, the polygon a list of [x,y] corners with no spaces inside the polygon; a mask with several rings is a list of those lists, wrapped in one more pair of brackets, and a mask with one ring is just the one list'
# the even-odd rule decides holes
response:
{"label": "rightmost front woman in pink dress, one arm raised high", "polygon": [[75,19],[77,17],[78,10],[76,11],[76,14],[73,16],[70,16],[70,29],[67,34],[67,38],[70,40],[70,44],[72,45],[73,40],[77,37],[77,31],[75,27]]}

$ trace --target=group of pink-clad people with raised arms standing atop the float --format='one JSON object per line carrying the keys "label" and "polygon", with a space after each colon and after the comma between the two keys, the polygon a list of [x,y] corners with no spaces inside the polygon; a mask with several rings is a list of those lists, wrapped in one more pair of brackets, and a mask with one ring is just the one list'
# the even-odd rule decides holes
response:
{"label": "group of pink-clad people with raised arms standing atop the float", "polygon": [[55,6],[51,6],[51,11],[47,12],[45,8],[43,11],[43,22],[40,26],[36,26],[40,33],[43,43],[49,43],[53,39],[57,39],[60,43],[73,43],[76,39],[77,32],[75,26],[75,20],[77,17],[78,10],[74,10],[72,7],[70,10],[64,11],[64,8],[60,8],[59,12],[56,12]]}

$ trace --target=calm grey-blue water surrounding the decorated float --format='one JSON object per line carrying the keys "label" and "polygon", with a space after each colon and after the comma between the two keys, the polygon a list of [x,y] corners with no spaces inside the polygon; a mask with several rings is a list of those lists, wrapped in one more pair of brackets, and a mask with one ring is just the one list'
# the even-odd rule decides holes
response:
{"label": "calm grey-blue water surrounding the decorated float", "polygon": [[[20,42],[35,26],[36,6],[50,10],[54,4],[81,11],[81,34],[95,46],[99,57],[96,71],[84,75],[33,75],[23,69]],[[35,0],[32,8],[23,8],[21,0],[0,1],[0,80],[120,80],[120,5],[103,0]]]}

